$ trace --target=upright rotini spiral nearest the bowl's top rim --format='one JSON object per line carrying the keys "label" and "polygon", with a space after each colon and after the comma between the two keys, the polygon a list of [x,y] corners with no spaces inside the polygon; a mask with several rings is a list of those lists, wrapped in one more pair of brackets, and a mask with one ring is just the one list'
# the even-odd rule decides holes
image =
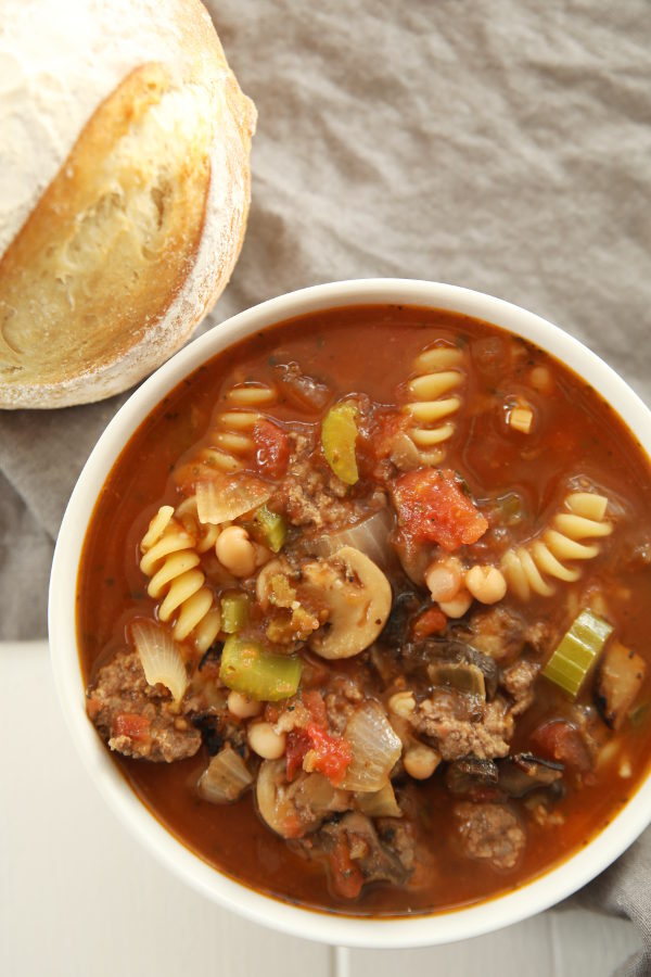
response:
{"label": "upright rotini spiral nearest the bowl's top rim", "polygon": [[404,410],[411,417],[408,433],[423,465],[438,465],[445,457],[445,442],[455,431],[450,417],[461,406],[461,397],[452,391],[463,382],[462,363],[463,353],[454,346],[423,350],[413,361],[416,376],[407,384],[409,402]]}

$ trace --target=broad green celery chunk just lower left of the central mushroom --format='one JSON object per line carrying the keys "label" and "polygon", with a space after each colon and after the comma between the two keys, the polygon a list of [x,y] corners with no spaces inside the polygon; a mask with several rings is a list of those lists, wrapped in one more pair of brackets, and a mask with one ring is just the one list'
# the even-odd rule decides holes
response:
{"label": "broad green celery chunk just lower left of the central mushroom", "polygon": [[264,702],[293,696],[301,681],[301,660],[275,655],[257,642],[231,635],[221,651],[219,677],[235,691]]}

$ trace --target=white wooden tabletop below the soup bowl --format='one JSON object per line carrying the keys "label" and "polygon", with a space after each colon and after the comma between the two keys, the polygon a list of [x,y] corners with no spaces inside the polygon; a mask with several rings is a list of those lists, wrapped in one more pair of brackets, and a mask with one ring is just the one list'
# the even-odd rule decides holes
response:
{"label": "white wooden tabletop below the soup bowl", "polygon": [[548,912],[462,943],[329,948],[207,902],[127,834],[89,782],[64,725],[44,642],[0,644],[2,977],[607,977],[633,926]]}

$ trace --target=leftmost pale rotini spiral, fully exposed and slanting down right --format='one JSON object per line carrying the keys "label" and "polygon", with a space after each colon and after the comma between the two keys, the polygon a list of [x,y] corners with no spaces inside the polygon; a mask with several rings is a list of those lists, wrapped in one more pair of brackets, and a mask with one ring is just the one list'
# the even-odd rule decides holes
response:
{"label": "leftmost pale rotini spiral, fully exposed and slanting down right", "polygon": [[209,587],[204,586],[196,541],[175,517],[171,506],[162,506],[140,543],[140,569],[150,578],[146,588],[158,605],[158,620],[173,626],[175,640],[192,638],[206,651],[221,627],[221,614]]}

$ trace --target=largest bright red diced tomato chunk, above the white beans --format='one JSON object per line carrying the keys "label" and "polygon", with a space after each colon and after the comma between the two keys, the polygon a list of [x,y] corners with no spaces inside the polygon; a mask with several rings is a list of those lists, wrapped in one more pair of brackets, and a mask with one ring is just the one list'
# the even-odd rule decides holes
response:
{"label": "largest bright red diced tomato chunk, above the white beans", "polygon": [[438,543],[451,553],[476,543],[488,529],[452,471],[408,471],[394,482],[393,495],[400,528],[416,543]]}

